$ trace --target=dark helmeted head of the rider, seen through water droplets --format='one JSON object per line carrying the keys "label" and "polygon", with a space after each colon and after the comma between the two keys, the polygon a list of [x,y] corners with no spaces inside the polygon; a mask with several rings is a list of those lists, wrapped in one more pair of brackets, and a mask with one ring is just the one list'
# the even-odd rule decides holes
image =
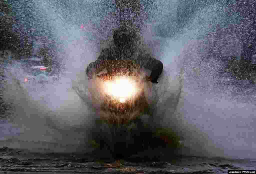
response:
{"label": "dark helmeted head of the rider, seen through water droplets", "polygon": [[120,27],[114,31],[113,42],[116,46],[128,46],[137,39],[134,29],[128,27]]}

